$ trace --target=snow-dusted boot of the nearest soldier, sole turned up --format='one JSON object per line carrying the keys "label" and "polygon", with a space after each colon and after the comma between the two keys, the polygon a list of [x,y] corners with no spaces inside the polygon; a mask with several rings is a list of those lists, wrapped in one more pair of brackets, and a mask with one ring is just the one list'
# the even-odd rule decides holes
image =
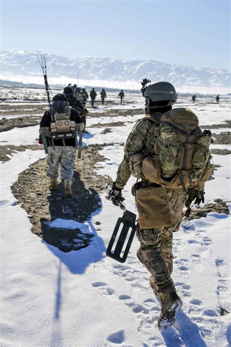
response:
{"label": "snow-dusted boot of the nearest soldier, sole turned up", "polygon": [[176,294],[176,291],[171,291],[161,302],[161,312],[158,319],[158,327],[171,327],[175,322],[175,313],[182,306],[182,300]]}

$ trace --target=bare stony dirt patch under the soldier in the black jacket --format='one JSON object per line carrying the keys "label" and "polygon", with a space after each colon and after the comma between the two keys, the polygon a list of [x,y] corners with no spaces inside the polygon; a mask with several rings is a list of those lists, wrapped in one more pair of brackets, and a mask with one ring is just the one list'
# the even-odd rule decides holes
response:
{"label": "bare stony dirt patch under the soldier in the black jacket", "polygon": [[[62,182],[58,183],[56,190],[49,190],[46,158],[30,165],[12,186],[14,196],[28,213],[32,232],[64,252],[86,247],[92,234],[83,234],[79,229],[52,229],[47,222],[61,218],[84,223],[100,208],[101,186],[110,181],[97,175],[94,169],[96,163],[104,161],[98,154],[102,147],[93,145],[83,148],[82,158],[76,160],[72,198],[64,196]],[[97,225],[95,227],[98,230]]]}

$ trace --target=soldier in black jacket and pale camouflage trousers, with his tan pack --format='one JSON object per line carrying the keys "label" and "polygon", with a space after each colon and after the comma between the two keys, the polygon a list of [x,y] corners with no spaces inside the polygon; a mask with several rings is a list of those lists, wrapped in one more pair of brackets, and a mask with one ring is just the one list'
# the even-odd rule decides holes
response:
{"label": "soldier in black jacket and pale camouflage trousers, with his tan pack", "polygon": [[[72,196],[71,185],[75,167],[77,145],[75,133],[77,129],[84,129],[81,117],[74,108],[69,106],[63,94],[56,94],[51,104],[51,110],[47,110],[41,119],[39,143],[46,141],[45,145],[48,148],[49,189],[56,189],[58,164],[60,164],[61,180],[64,180],[64,192],[67,197]],[[53,139],[52,134],[54,133],[57,134],[57,139]],[[59,134],[63,133],[65,136],[59,139]]]}

